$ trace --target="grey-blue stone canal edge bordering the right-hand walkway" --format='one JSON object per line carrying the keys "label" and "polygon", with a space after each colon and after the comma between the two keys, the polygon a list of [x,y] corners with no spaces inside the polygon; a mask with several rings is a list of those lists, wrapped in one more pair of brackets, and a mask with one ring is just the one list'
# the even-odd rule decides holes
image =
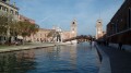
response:
{"label": "grey-blue stone canal edge bordering the right-hand walkway", "polygon": [[100,60],[98,73],[111,73],[109,57],[98,47],[98,45],[96,45],[96,50]]}

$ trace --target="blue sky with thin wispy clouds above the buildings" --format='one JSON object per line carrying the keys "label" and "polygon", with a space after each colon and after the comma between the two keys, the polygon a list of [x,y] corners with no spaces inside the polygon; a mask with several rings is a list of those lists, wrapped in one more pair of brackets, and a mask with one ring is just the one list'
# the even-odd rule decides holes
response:
{"label": "blue sky with thin wispy clouds above the buildings", "polygon": [[103,28],[124,0],[11,0],[16,2],[20,14],[35,20],[41,28],[59,26],[70,31],[78,21],[78,35],[95,35],[96,21],[103,20]]}

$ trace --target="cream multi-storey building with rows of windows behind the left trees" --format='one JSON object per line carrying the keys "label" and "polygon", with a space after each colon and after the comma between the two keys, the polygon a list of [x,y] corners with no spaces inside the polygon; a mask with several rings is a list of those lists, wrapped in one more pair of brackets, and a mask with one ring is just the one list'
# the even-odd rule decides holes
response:
{"label": "cream multi-storey building with rows of windows behind the left trees", "polygon": [[[7,16],[8,21],[16,22],[19,21],[19,8],[15,3],[10,3],[10,0],[0,0],[0,15]],[[0,34],[0,44],[4,44],[7,37],[10,36],[10,29],[7,31],[7,36]],[[11,40],[13,40],[12,38]]]}

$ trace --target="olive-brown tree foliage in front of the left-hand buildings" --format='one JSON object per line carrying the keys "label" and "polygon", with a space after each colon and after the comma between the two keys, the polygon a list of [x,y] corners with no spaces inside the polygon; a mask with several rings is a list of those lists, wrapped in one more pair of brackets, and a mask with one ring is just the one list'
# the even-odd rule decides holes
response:
{"label": "olive-brown tree foliage in front of the left-hand buildings", "polygon": [[39,29],[37,24],[12,20],[12,16],[0,15],[0,36],[7,36],[8,29],[10,31],[10,36],[21,35],[23,37],[31,36],[31,34],[35,34]]}

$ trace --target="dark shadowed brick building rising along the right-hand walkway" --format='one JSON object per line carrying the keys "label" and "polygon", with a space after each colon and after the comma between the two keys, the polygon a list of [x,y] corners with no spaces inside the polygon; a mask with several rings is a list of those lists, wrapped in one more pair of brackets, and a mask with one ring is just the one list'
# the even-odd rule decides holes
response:
{"label": "dark shadowed brick building rising along the right-hand walkway", "polygon": [[107,39],[114,44],[131,45],[131,0],[124,0],[108,23]]}

